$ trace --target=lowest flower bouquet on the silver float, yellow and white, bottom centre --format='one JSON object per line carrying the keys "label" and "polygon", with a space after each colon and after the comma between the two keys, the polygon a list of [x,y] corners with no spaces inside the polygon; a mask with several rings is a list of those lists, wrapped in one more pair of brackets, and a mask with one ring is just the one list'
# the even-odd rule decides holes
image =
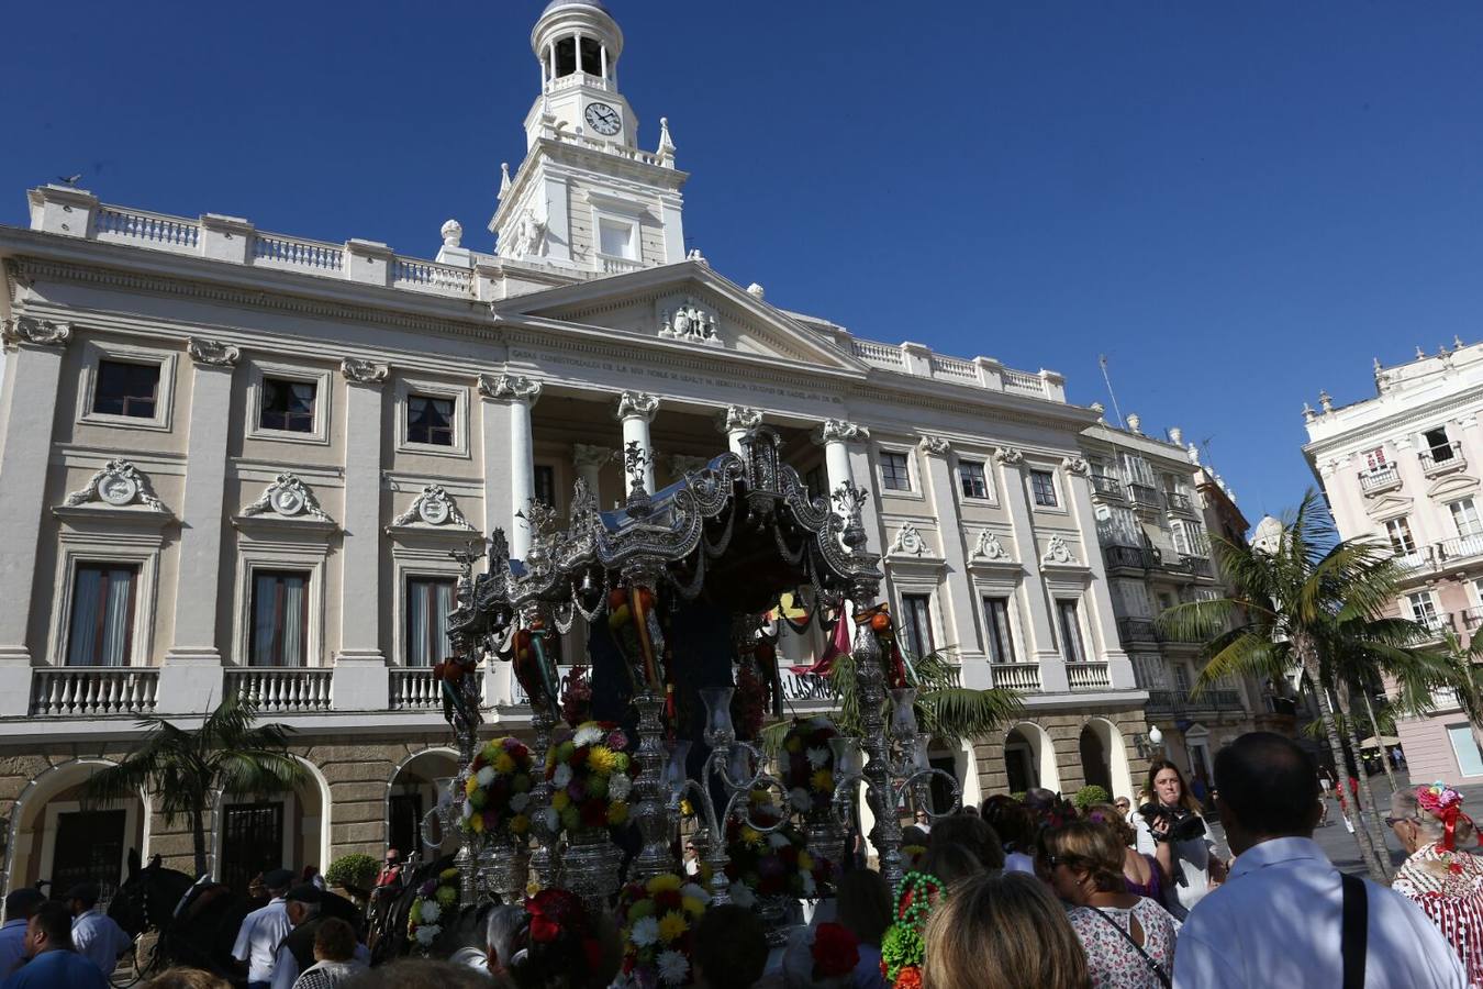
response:
{"label": "lowest flower bouquet on the silver float, yellow and white, bottom centre", "polygon": [[707,906],[710,894],[704,888],[673,873],[623,887],[623,974],[641,989],[691,985],[691,937]]}

